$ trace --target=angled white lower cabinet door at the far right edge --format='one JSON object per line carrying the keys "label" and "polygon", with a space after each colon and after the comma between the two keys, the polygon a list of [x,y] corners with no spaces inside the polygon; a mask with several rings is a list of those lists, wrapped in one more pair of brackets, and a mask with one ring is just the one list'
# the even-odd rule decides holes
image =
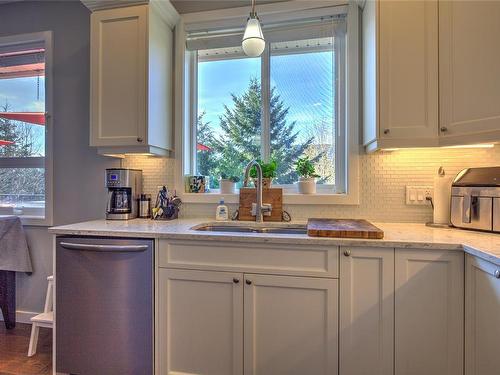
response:
{"label": "angled white lower cabinet door at the far right edge", "polygon": [[496,375],[500,337],[500,266],[467,255],[465,374]]}

